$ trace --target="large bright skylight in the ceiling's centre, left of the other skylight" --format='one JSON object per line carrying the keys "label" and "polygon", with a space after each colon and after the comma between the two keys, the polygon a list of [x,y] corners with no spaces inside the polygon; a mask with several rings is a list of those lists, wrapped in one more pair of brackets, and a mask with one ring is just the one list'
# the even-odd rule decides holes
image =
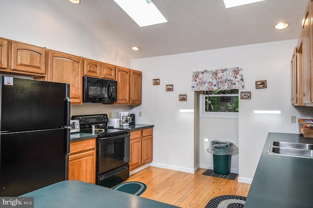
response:
{"label": "large bright skylight in the ceiling's centre, left of the other skylight", "polygon": [[167,22],[151,0],[114,0],[140,27]]}

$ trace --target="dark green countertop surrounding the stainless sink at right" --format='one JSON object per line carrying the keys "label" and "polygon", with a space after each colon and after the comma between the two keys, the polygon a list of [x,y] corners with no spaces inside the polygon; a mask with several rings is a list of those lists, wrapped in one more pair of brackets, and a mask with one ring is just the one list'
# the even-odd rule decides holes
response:
{"label": "dark green countertop surrounding the stainless sink at right", "polygon": [[268,154],[270,141],[313,144],[302,134],[268,133],[245,208],[313,208],[313,158]]}

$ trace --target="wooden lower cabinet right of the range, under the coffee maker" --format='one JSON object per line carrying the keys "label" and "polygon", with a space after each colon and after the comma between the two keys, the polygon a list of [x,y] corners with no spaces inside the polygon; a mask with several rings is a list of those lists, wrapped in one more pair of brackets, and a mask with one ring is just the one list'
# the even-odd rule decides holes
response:
{"label": "wooden lower cabinet right of the range, under the coffee maker", "polygon": [[153,128],[131,132],[130,170],[153,160]]}

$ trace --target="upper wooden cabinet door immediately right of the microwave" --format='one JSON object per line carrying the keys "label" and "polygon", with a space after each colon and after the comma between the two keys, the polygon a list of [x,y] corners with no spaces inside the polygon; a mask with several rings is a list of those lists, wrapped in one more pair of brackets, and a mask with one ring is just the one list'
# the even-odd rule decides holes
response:
{"label": "upper wooden cabinet door immediately right of the microwave", "polygon": [[116,67],[117,102],[116,104],[130,103],[130,70]]}

